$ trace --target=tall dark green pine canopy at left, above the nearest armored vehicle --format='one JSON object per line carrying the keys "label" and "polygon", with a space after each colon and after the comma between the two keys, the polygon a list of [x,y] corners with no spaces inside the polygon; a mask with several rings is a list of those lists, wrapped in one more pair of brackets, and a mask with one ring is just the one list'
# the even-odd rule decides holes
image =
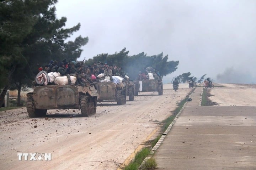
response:
{"label": "tall dark green pine canopy at left, above the nearest armored vehicle", "polygon": [[76,61],[80,57],[88,37],[65,42],[80,29],[80,23],[64,29],[67,19],[56,18],[55,3],[57,0],[0,2],[0,89],[4,88],[0,104],[11,83],[30,84],[38,68],[50,60]]}

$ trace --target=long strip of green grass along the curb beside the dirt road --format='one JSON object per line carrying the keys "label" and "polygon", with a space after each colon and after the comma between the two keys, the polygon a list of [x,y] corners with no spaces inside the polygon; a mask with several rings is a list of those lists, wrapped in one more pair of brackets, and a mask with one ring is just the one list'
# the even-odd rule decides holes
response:
{"label": "long strip of green grass along the curb beside the dirt road", "polygon": [[[161,122],[161,124],[162,124],[161,134],[166,131],[166,129],[172,123],[172,121],[174,120],[176,115],[181,111],[182,107],[184,106],[184,104],[187,101],[187,98],[192,94],[193,91],[194,91],[194,88],[190,92],[190,94],[188,94],[181,102],[177,103],[178,107],[174,110],[173,115],[169,116],[167,119],[165,119]],[[143,163],[144,159],[146,157],[148,157],[148,155],[150,154],[151,148],[153,148],[156,145],[156,143],[159,141],[161,136],[162,135],[158,135],[153,141],[150,142],[151,147],[145,147],[142,150],[140,150],[139,152],[137,152],[135,154],[133,161],[130,162],[127,166],[125,166],[123,168],[123,170],[138,170],[139,167],[140,167],[140,170],[156,169],[157,164],[155,162],[155,159],[152,157],[149,158],[148,160],[146,160],[143,165],[142,165],[142,163]]]}

